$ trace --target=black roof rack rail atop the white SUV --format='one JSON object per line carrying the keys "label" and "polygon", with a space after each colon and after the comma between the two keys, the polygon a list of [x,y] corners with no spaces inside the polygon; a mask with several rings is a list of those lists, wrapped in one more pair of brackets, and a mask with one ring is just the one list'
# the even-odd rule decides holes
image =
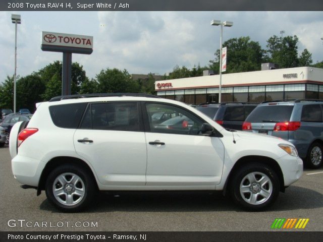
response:
{"label": "black roof rack rail atop the white SUV", "polygon": [[87,97],[124,97],[124,96],[160,98],[158,96],[155,96],[152,94],[145,94],[145,93],[92,93],[92,94],[57,96],[57,97],[51,98],[49,102],[61,101],[66,99],[87,98]]}

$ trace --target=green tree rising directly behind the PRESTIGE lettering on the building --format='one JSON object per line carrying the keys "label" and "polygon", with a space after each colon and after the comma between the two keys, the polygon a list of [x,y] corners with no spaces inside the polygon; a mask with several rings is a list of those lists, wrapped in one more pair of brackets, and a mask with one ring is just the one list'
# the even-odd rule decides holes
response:
{"label": "green tree rising directly behind the PRESTIGE lettering on the building", "polygon": [[297,52],[298,37],[276,35],[267,40],[267,54],[270,62],[278,64],[280,68],[298,67],[299,59]]}

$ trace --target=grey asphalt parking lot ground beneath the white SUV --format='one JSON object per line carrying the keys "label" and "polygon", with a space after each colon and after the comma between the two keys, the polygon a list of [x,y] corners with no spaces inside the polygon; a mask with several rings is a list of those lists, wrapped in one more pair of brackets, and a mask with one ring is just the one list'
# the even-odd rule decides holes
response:
{"label": "grey asphalt parking lot ground beneath the white SUV", "polygon": [[216,192],[113,192],[66,214],[44,193],[19,187],[8,147],[0,148],[0,167],[1,231],[270,231],[276,218],[309,218],[304,230],[323,231],[323,169],[305,170],[266,212],[244,212]]}

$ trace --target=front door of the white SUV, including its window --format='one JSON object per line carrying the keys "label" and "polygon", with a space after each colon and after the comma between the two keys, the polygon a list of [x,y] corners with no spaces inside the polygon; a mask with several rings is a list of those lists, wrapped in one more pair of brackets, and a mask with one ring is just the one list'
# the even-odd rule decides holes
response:
{"label": "front door of the white SUV, including its window", "polygon": [[[201,134],[204,120],[177,105],[145,103],[147,186],[215,186],[220,183],[224,146]],[[155,124],[156,112],[171,113]]]}

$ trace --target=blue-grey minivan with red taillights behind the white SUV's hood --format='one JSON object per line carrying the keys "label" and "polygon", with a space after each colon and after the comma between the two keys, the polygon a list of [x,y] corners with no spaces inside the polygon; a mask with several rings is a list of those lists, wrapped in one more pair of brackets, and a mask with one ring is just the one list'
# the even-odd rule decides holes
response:
{"label": "blue-grey minivan with red taillights behind the white SUV's hood", "polygon": [[322,166],[323,100],[279,100],[259,104],[246,118],[243,130],[276,136],[295,145],[305,165]]}

